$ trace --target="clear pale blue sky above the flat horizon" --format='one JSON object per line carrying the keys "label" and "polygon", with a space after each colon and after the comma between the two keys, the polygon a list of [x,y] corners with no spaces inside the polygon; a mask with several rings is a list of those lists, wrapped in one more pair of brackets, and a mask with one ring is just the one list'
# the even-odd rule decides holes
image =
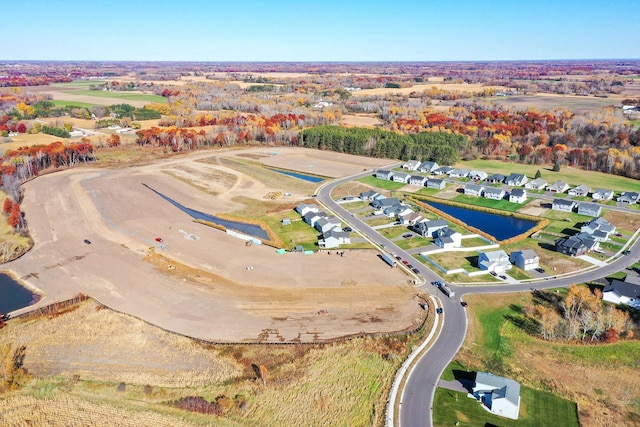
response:
{"label": "clear pale blue sky above the flat horizon", "polygon": [[3,60],[640,58],[640,0],[22,0]]}

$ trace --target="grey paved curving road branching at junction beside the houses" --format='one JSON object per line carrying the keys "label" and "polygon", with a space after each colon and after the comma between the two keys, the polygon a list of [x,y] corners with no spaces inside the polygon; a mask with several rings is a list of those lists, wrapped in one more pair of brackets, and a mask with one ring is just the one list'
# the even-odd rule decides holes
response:
{"label": "grey paved curving road branching at junction beside the houses", "polygon": [[[395,167],[395,166],[391,166]],[[356,175],[336,179],[318,188],[316,197],[328,209],[342,218],[354,231],[364,235],[378,246],[385,245],[386,250],[395,252],[403,259],[411,260],[411,254],[398,247],[392,241],[381,236],[378,232],[369,227],[360,218],[354,216],[331,198],[331,191],[338,185],[352,181],[367,175],[371,171],[365,171]],[[635,237],[635,236],[634,236]],[[442,280],[440,276],[428,269],[422,263],[414,263],[414,266],[425,278],[422,289],[428,293],[437,293],[441,298],[444,309],[443,326],[436,341],[417,361],[413,370],[407,378],[400,398],[400,410],[398,414],[399,425],[405,427],[431,427],[432,425],[432,403],[436,385],[440,376],[449,362],[455,357],[462,346],[467,332],[466,310],[460,304],[461,297],[471,293],[502,293],[527,291],[532,288],[544,289],[554,287],[565,287],[573,283],[582,283],[606,277],[615,272],[624,270],[634,263],[634,259],[640,257],[640,241],[636,241],[630,248],[629,255],[623,255],[606,266],[592,269],[573,276],[566,276],[548,280],[540,280],[527,284],[504,284],[504,285],[449,285],[454,291],[452,298],[444,297],[438,288],[429,285],[433,281]],[[431,292],[433,291],[433,292]]]}

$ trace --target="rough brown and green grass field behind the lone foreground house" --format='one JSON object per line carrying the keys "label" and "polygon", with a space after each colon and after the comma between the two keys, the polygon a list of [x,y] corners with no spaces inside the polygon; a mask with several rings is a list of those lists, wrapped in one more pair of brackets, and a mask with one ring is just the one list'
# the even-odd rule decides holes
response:
{"label": "rough brown and green grass field behind the lone foreground house", "polygon": [[[637,340],[597,346],[545,342],[509,320],[520,317],[520,310],[531,304],[528,292],[468,295],[465,300],[470,316],[467,337],[444,379],[453,379],[451,369],[489,371],[577,402],[582,426],[638,422],[640,402],[632,397],[638,395],[633,374],[637,360],[630,357],[640,351]],[[465,410],[460,410],[463,415]]]}

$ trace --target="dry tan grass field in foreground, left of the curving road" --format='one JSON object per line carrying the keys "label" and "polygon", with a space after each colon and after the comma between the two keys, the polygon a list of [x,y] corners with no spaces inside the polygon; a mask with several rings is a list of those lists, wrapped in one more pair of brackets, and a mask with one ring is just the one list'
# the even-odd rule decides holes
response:
{"label": "dry tan grass field in foreground, left of the curving road", "polygon": [[[420,335],[216,346],[87,301],[0,334],[0,348],[26,346],[33,377],[0,394],[0,425],[382,426],[393,373]],[[215,400],[220,414],[167,405],[188,396]]]}

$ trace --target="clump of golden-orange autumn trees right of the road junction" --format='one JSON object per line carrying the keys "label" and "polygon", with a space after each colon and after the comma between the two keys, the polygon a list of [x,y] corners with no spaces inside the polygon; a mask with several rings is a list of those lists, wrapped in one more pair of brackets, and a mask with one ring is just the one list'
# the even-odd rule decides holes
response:
{"label": "clump of golden-orange autumn trees right of the road junction", "polygon": [[524,313],[545,340],[568,342],[614,342],[632,335],[629,314],[602,302],[602,293],[572,285],[565,297],[535,291],[535,304]]}

